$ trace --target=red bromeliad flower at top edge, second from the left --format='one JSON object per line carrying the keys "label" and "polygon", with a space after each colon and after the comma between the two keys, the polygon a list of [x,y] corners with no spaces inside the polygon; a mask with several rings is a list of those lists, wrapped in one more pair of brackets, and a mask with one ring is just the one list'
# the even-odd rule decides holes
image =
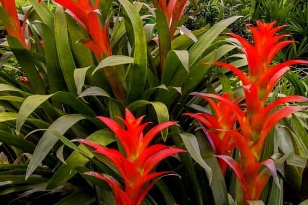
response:
{"label": "red bromeliad flower at top edge, second from the left", "polygon": [[94,5],[90,0],[55,0],[55,2],[67,8],[66,12],[87,30],[92,39],[87,40],[84,44],[100,60],[103,59],[104,55],[112,55],[108,36],[108,20],[102,28],[98,17],[100,0],[96,0]]}

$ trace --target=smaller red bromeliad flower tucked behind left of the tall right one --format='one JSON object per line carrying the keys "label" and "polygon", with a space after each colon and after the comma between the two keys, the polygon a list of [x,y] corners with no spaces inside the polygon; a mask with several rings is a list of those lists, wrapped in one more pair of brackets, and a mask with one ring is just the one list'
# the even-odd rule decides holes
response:
{"label": "smaller red bromeliad flower tucked behind left of the tall right one", "polygon": [[[227,100],[230,99],[229,94],[223,94],[222,97]],[[209,135],[209,140],[215,154],[230,156],[232,150],[235,148],[236,143],[232,141],[229,130],[234,129],[235,122],[237,120],[236,115],[232,109],[228,108],[228,105],[223,101],[219,101],[217,104],[208,97],[204,97],[206,101],[213,108],[215,115],[208,113],[185,113],[197,119],[205,127],[204,130]],[[233,100],[233,103],[237,103],[239,99]],[[225,175],[227,170],[227,163],[222,159],[218,159],[222,173]]]}

